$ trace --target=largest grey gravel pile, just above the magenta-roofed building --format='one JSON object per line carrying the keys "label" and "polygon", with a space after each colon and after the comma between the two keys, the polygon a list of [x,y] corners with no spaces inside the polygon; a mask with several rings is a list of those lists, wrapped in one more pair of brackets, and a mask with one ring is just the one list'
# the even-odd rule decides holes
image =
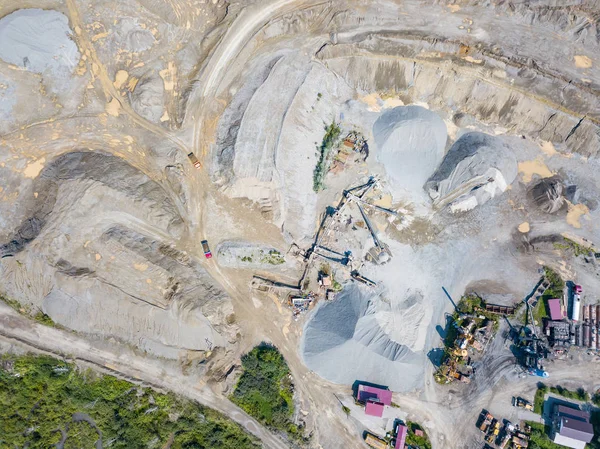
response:
{"label": "largest grey gravel pile, just above the magenta-roofed building", "polygon": [[335,383],[368,380],[395,391],[413,389],[423,369],[414,352],[424,346],[419,332],[423,315],[420,295],[394,304],[356,285],[347,286],[307,322],[304,362]]}

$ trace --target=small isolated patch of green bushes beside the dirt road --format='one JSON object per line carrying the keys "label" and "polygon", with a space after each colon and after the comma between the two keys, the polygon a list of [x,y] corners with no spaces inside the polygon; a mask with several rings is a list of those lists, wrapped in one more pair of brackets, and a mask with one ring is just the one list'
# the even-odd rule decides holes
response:
{"label": "small isolated patch of green bushes beside the dirt road", "polygon": [[244,369],[230,399],[266,426],[299,439],[292,422],[293,385],[285,359],[274,346],[262,344],[242,357]]}

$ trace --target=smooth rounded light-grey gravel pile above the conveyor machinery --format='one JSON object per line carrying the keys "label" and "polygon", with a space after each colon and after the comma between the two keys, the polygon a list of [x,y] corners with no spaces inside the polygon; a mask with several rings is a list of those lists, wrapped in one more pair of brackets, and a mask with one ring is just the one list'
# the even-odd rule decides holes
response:
{"label": "smooth rounded light-grey gravel pile above the conveyor machinery", "polygon": [[444,156],[446,125],[420,106],[386,110],[373,125],[377,158],[392,186],[419,191]]}

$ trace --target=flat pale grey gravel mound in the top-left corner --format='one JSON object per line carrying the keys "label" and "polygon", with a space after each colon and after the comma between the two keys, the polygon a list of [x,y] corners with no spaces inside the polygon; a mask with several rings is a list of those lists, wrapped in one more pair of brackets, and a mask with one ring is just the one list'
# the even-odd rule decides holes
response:
{"label": "flat pale grey gravel mound in the top-left corner", "polygon": [[68,83],[79,62],[67,17],[57,11],[21,9],[0,20],[0,59]]}

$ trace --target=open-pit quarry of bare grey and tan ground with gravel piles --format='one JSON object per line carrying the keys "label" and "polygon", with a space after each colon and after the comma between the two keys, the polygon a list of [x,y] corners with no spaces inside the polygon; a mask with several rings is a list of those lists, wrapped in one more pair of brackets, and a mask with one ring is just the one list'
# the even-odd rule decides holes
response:
{"label": "open-pit quarry of bare grey and tan ground with gravel piles", "polygon": [[[480,448],[465,423],[536,379],[502,322],[437,384],[447,314],[544,266],[596,303],[600,252],[556,242],[600,244],[599,155],[598,1],[5,0],[0,337],[292,447],[227,399],[269,342],[307,447],[385,428],[365,381],[434,448]],[[552,381],[599,388],[574,360]]]}

